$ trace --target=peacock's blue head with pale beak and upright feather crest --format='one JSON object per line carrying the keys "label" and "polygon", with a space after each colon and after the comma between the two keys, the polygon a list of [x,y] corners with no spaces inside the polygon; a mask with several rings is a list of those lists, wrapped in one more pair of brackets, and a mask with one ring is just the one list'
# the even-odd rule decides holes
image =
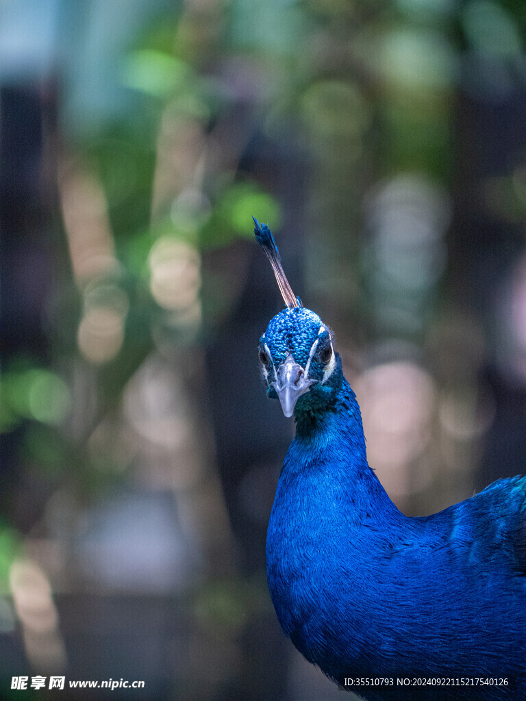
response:
{"label": "peacock's blue head with pale beak and upright feather crest", "polygon": [[335,403],[342,383],[342,362],[332,347],[332,333],[321,318],[305,309],[292,292],[268,226],[255,222],[255,235],[274,268],[287,304],[259,339],[259,362],[267,395],[279,399],[285,416],[297,411],[318,414]]}

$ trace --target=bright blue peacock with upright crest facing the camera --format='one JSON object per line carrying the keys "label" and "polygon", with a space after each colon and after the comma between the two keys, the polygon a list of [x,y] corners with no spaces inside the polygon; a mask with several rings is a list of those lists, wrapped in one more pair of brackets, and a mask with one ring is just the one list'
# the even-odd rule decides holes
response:
{"label": "bright blue peacock with upright crest facing the camera", "polygon": [[254,222],[286,304],[259,363],[296,425],[267,531],[283,631],[367,701],[525,701],[526,477],[403,515],[367,464],[330,328],[295,297],[274,236]]}

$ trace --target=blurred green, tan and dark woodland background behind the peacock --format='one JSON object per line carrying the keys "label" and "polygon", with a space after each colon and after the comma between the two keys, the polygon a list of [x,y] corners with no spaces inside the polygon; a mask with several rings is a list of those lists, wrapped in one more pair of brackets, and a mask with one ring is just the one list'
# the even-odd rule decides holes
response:
{"label": "blurred green, tan and dark woodland background behind the peacock", "polygon": [[401,509],[524,472],[525,35],[520,0],[0,3],[1,698],[339,698],[267,593],[252,215]]}

